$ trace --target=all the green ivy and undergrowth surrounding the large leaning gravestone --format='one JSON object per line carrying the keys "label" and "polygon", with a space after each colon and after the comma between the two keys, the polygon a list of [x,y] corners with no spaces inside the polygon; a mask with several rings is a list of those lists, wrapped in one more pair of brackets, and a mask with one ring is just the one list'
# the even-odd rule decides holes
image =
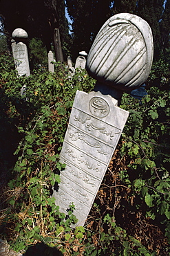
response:
{"label": "all the green ivy and undergrowth surrounding the large leaning gravestone", "polygon": [[[169,91],[151,88],[142,103],[123,94],[121,107],[129,111],[129,118],[116,150],[117,162],[112,171],[109,167],[111,175],[116,168],[118,172],[113,181],[103,184],[110,205],[106,206],[108,199],[101,187],[85,227],[74,229],[70,228],[76,223],[74,205],[65,218],[50,193],[65,167],[59,163],[59,153],[76,90],[89,92],[95,81],[81,70],[70,80],[60,64],[55,66],[54,74],[34,71],[30,77],[17,77],[13,60],[1,57],[0,117],[4,124],[17,128],[19,136],[17,161],[2,198],[2,238],[17,251],[42,241],[65,255],[158,255],[156,247],[138,238],[143,224],[140,232],[133,233],[120,223],[123,216],[116,212],[132,208],[140,215],[139,223],[142,218],[156,221],[164,228],[164,239],[170,237]],[[24,84],[27,90],[21,96]],[[167,253],[168,244],[163,250]]]}

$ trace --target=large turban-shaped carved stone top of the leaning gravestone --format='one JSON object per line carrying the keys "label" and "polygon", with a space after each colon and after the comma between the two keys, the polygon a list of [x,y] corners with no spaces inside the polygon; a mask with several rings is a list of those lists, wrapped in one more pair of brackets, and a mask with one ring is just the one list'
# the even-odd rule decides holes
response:
{"label": "large turban-shaped carved stone top of the leaning gravestone", "polygon": [[131,91],[147,80],[152,60],[153,38],[147,21],[119,13],[100,28],[86,65],[98,82]]}

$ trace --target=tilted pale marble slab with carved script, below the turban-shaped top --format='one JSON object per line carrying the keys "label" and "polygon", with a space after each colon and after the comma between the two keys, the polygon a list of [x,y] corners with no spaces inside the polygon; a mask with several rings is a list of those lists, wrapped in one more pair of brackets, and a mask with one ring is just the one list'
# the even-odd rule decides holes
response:
{"label": "tilted pale marble slab with carved script, below the turban-shaped top", "polygon": [[117,107],[117,100],[99,92],[77,91],[61,151],[59,191],[56,205],[67,213],[73,202],[83,226],[129,115]]}

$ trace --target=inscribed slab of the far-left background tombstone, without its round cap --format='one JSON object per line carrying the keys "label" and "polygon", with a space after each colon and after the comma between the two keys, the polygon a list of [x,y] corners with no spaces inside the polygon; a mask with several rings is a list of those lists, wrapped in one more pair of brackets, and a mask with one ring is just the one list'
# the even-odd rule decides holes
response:
{"label": "inscribed slab of the far-left background tombstone, without its round cap", "polygon": [[18,75],[30,75],[30,66],[28,61],[27,46],[23,42],[14,42],[12,40],[12,53],[14,57],[14,64],[18,71]]}

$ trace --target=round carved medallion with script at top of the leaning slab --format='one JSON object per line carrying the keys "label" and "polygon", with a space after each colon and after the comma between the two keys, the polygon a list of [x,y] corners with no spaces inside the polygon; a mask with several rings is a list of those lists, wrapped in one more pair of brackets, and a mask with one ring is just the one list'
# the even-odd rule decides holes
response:
{"label": "round carved medallion with script at top of the leaning slab", "polygon": [[89,111],[98,118],[104,118],[109,114],[109,104],[100,97],[93,97],[89,101]]}

